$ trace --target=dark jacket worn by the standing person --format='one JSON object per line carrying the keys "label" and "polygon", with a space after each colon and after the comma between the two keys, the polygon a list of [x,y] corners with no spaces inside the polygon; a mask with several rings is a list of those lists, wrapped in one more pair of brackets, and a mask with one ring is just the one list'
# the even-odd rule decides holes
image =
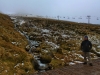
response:
{"label": "dark jacket worn by the standing person", "polygon": [[92,48],[92,44],[91,44],[91,42],[89,40],[82,41],[81,50],[83,52],[90,52],[91,48]]}

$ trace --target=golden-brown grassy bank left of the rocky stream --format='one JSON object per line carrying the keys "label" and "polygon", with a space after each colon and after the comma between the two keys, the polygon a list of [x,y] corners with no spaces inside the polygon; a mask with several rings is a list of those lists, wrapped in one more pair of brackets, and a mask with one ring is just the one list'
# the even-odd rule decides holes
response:
{"label": "golden-brown grassy bank left of the rocky stream", "polygon": [[33,57],[25,51],[27,39],[15,30],[9,16],[0,13],[0,74],[34,72]]}

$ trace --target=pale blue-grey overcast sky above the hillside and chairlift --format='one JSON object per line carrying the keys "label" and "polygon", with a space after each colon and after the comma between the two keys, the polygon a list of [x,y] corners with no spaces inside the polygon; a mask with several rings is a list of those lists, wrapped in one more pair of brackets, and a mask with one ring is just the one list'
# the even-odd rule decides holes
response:
{"label": "pale blue-grey overcast sky above the hillside and chairlift", "polygon": [[[91,23],[100,24],[100,0],[0,0],[0,12],[28,13],[32,15],[66,17],[71,21],[87,22],[86,16],[91,16]],[[75,17],[75,19],[73,19]],[[82,17],[82,19],[79,19]]]}

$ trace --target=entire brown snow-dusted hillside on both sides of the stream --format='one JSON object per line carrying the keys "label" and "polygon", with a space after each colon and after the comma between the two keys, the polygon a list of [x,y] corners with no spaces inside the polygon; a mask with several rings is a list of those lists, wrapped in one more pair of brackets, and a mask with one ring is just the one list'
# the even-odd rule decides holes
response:
{"label": "entire brown snow-dusted hillside on both sides of the stream", "polygon": [[93,44],[92,59],[100,57],[99,25],[0,14],[0,32],[2,75],[34,73],[34,53],[49,62],[50,69],[82,63],[84,35]]}

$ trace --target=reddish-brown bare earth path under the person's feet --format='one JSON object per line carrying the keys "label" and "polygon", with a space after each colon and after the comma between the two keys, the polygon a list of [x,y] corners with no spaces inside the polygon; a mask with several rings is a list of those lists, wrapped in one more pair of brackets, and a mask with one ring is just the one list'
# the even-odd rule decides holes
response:
{"label": "reddish-brown bare earth path under the person's feet", "polygon": [[100,58],[93,60],[93,66],[76,64],[30,75],[100,75]]}

